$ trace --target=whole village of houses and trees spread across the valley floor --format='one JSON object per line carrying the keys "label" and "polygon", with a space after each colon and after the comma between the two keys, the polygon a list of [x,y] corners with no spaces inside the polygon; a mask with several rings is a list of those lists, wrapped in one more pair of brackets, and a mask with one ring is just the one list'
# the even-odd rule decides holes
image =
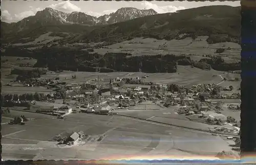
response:
{"label": "whole village of houses and trees spread across the valley floor", "polygon": [[[54,115],[56,119],[61,120],[65,120],[65,116],[71,113],[123,115],[122,112],[125,111],[142,112],[170,108],[175,111],[175,114],[189,121],[219,125],[220,127],[210,129],[213,135],[225,133],[232,138],[239,133],[240,122],[232,116],[222,114],[223,107],[232,111],[240,110],[240,92],[237,92],[239,89],[235,90],[232,86],[220,87],[215,83],[197,84],[191,87],[157,84],[146,82],[147,77],[147,75],[141,78],[100,78],[98,76],[97,79],[81,84],[68,84],[65,81],[67,78],[17,81],[24,86],[42,86],[54,92],[47,95],[37,92],[34,95],[29,93],[4,95],[2,96],[3,104],[8,108],[26,107],[21,111]],[[72,75],[71,79],[75,80],[76,75]],[[221,91],[229,92],[223,94]],[[165,112],[165,114],[168,113],[170,112]],[[12,123],[13,120],[9,122],[9,124]],[[221,127],[223,125],[231,127]],[[82,135],[75,133],[73,136],[81,137]]]}

